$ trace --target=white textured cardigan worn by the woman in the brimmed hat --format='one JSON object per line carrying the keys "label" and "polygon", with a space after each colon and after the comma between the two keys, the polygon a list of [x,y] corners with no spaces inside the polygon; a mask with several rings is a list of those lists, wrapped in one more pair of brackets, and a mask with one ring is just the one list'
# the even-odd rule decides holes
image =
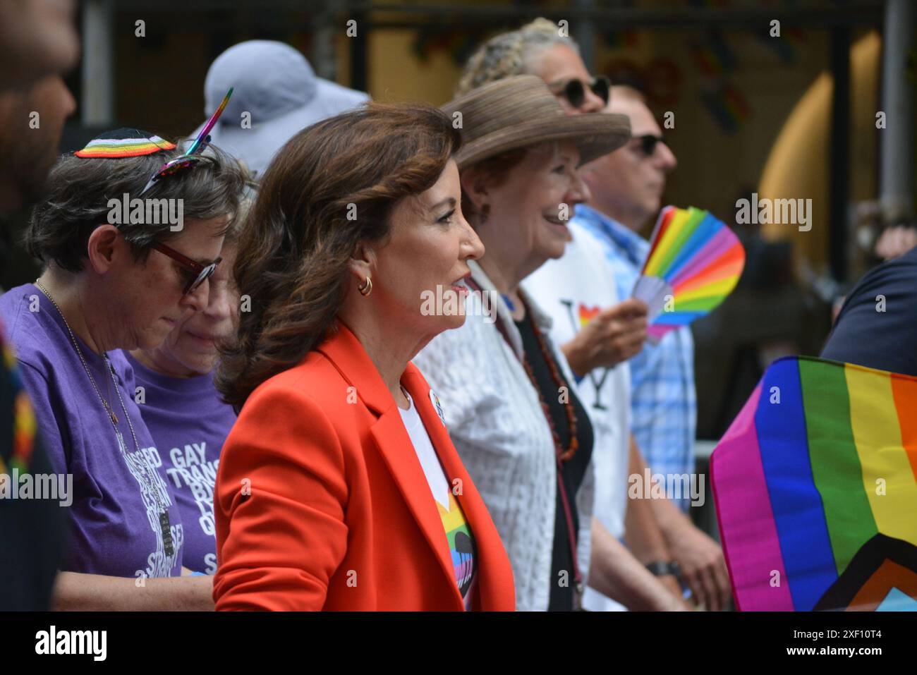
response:
{"label": "white textured cardigan worn by the woman in the brimmed hat", "polygon": [[[522,365],[522,337],[503,297],[481,267],[471,277],[501,317],[512,347],[492,316],[474,311],[469,298],[465,325],[434,338],[414,359],[439,397],[449,436],[468,469],[513,566],[516,609],[545,611],[550,597],[558,470],[554,438],[538,393]],[[567,360],[548,337],[551,319],[520,291],[567,382],[575,382]],[[580,515],[577,559],[583,583],[589,571],[595,493],[590,459],[575,508]],[[574,506],[574,504],[570,504]],[[570,570],[569,583],[573,583]]]}

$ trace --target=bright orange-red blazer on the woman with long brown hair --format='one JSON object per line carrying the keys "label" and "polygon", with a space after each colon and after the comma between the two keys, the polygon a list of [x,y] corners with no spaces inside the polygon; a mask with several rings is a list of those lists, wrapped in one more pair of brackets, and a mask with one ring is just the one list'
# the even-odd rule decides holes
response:
{"label": "bright orange-red blazer on the woman with long brown hair", "polygon": [[[214,492],[216,609],[461,611],[446,532],[398,406],[338,326],[251,393],[226,438]],[[477,553],[472,606],[513,610],[510,561],[430,386],[413,363],[401,382],[450,485],[461,486]]]}

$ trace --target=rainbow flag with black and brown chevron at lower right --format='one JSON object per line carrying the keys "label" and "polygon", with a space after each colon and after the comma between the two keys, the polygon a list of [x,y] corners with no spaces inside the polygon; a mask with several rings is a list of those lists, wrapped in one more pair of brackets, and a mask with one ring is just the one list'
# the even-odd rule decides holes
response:
{"label": "rainbow flag with black and brown chevron at lower right", "polygon": [[917,378],[775,361],[711,459],[740,610],[917,610]]}

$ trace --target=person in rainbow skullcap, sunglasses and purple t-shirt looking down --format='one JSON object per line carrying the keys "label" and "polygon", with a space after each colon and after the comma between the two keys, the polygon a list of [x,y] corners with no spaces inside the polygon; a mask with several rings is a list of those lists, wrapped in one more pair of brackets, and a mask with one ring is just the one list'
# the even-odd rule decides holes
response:
{"label": "person in rainbow skullcap, sunglasses and purple t-shirt looking down", "polygon": [[119,351],[157,347],[208,304],[244,184],[235,160],[211,149],[159,180],[154,201],[130,201],[181,155],[118,129],[62,157],[26,232],[44,270],[0,298],[51,465],[72,480],[60,609],[213,606],[210,579],[167,579],[182,574],[182,514]]}

